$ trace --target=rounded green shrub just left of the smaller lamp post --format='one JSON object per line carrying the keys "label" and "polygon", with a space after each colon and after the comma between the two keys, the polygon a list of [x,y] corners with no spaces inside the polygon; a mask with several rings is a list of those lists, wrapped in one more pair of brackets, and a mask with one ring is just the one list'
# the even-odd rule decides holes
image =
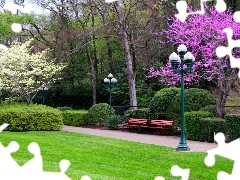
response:
{"label": "rounded green shrub just left of the smaller lamp post", "polygon": [[[109,118],[110,105],[107,103],[99,103],[93,105],[87,113],[86,124],[87,125],[100,125],[106,126]],[[112,115],[115,111],[111,107]]]}

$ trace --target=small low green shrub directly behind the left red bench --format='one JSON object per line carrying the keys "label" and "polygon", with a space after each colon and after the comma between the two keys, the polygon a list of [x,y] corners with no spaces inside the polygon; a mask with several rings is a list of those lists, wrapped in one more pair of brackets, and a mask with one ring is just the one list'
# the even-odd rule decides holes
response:
{"label": "small low green shrub directly behind the left red bench", "polygon": [[147,119],[148,109],[132,109],[124,112],[124,119],[127,122],[130,118]]}

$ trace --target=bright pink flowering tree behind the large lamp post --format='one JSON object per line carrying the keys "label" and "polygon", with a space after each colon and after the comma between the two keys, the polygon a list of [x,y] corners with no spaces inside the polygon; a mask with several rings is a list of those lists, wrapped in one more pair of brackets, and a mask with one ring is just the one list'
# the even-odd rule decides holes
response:
{"label": "bright pink flowering tree behind the large lamp post", "polygon": [[[219,93],[217,116],[222,117],[227,96],[238,78],[238,70],[230,67],[228,56],[218,58],[215,50],[218,46],[228,46],[227,36],[222,32],[224,28],[232,28],[233,39],[240,39],[240,24],[233,20],[230,10],[219,13],[214,7],[206,5],[205,9],[206,14],[190,15],[185,22],[170,18],[168,22],[172,23],[169,28],[155,34],[166,37],[161,43],[176,46],[176,49],[184,44],[194,55],[193,71],[185,75],[185,84],[194,86],[203,79],[215,82]],[[239,49],[234,49],[233,54],[239,57]],[[160,81],[169,87],[180,84],[180,75],[173,72],[170,62],[160,70],[151,67],[149,77],[160,77]]]}

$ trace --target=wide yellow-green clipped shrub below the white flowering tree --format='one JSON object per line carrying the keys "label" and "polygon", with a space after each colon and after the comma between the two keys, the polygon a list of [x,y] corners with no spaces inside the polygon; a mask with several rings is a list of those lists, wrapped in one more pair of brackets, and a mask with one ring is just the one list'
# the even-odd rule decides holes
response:
{"label": "wide yellow-green clipped shrub below the white flowering tree", "polygon": [[0,106],[0,124],[9,131],[56,131],[63,125],[58,109],[44,105],[12,104]]}

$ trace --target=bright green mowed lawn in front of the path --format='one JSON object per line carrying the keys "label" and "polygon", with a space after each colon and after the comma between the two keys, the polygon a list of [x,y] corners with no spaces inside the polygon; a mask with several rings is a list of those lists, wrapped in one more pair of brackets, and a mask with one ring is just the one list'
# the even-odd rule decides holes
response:
{"label": "bright green mowed lawn in front of the path", "polygon": [[[60,171],[62,159],[71,161],[66,174],[73,180],[83,175],[93,180],[180,180],[171,176],[173,165],[190,169],[190,180],[217,179],[219,171],[231,173],[233,161],[216,157],[213,167],[204,164],[207,153],[174,152],[173,148],[129,142],[70,132],[1,132],[1,142],[7,146],[17,141],[20,150],[14,159],[23,165],[33,156],[27,146],[37,142],[41,148],[45,171]],[[161,136],[159,136],[159,139]]]}

